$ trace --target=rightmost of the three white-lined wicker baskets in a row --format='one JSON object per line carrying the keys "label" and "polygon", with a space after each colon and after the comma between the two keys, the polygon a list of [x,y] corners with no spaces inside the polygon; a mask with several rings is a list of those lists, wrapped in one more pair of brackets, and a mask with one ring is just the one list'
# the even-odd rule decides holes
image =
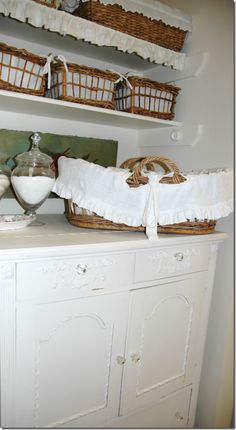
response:
{"label": "rightmost of the three white-lined wicker baskets in a row", "polygon": [[116,109],[124,112],[171,120],[175,117],[176,97],[180,88],[138,76],[116,85]]}

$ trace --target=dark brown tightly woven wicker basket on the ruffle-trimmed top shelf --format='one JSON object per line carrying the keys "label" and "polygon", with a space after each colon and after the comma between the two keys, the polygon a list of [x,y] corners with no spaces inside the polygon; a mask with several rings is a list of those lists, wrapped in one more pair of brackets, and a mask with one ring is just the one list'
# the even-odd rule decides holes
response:
{"label": "dark brown tightly woven wicker basket on the ruffle-trimmed top shelf", "polygon": [[126,11],[118,4],[103,4],[99,0],[81,1],[73,14],[176,52],[182,50],[187,34],[187,31],[162,20]]}

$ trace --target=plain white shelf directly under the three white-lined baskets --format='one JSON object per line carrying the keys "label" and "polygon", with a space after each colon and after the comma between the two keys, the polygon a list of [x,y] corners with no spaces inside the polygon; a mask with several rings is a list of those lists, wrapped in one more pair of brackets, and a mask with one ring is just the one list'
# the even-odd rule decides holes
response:
{"label": "plain white shelf directly under the three white-lined baskets", "polygon": [[0,90],[0,110],[140,130],[182,126],[182,123],[177,121],[162,120],[5,90]]}

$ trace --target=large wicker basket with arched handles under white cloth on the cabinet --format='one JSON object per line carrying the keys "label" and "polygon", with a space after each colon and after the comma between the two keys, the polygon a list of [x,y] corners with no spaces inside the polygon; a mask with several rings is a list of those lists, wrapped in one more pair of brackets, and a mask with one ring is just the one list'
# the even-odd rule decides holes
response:
{"label": "large wicker basket with arched handles under white cloth on the cabinet", "polygon": [[[143,170],[154,171],[155,164],[159,165],[164,174],[173,172],[172,176],[163,176],[160,183],[165,184],[179,184],[186,181],[186,178],[181,175],[179,168],[176,164],[166,157],[135,157],[126,160],[121,164],[121,168],[130,169],[133,174],[127,179],[130,187],[139,187],[148,183],[148,177],[142,175]],[[128,230],[128,231],[145,231],[143,226],[128,226],[126,224],[118,224],[109,221],[101,216],[96,215],[94,212],[88,214],[86,209],[80,208],[80,213],[76,213],[76,204],[71,200],[66,201],[65,215],[70,224],[82,228],[104,229],[104,230]],[[158,233],[179,233],[179,234],[209,234],[215,229],[216,221],[214,220],[194,220],[181,222],[178,224],[168,224],[165,226],[158,225]]]}

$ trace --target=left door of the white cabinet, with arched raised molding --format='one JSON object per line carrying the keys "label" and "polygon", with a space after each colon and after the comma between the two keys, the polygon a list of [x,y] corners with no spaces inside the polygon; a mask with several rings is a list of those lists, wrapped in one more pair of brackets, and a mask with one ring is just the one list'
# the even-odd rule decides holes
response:
{"label": "left door of the white cabinet, with arched raised molding", "polygon": [[118,415],[128,293],[18,310],[15,425],[93,426]]}

